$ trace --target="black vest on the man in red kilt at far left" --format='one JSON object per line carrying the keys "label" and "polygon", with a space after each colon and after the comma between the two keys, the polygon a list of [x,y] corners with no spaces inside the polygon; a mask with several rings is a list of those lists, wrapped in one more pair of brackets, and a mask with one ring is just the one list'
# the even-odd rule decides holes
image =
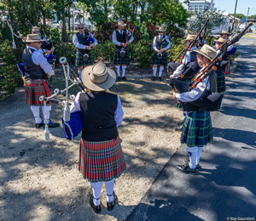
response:
{"label": "black vest on the man in red kilt at far left", "polygon": [[24,64],[26,78],[29,79],[47,79],[48,75],[44,72],[40,65],[36,65],[32,61],[32,54],[35,49],[26,48],[22,54],[22,62]]}

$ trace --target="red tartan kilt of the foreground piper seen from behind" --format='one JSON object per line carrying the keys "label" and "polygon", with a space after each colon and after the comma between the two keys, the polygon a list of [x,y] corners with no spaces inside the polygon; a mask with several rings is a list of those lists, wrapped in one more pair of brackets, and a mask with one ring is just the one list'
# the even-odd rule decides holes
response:
{"label": "red tartan kilt of the foreground piper seen from behind", "polygon": [[119,137],[101,142],[80,140],[79,171],[90,182],[119,178],[125,171],[125,157]]}

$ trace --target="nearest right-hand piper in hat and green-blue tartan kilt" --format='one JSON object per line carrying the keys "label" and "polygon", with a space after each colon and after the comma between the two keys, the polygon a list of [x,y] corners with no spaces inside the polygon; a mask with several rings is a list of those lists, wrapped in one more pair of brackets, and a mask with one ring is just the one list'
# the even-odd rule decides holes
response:
{"label": "nearest right-hand piper in hat and green-blue tartan kilt", "polygon": [[[205,44],[201,49],[194,50],[197,53],[197,62],[200,67],[210,64],[211,59],[217,52],[214,48]],[[189,102],[199,99],[201,94],[207,88],[212,92],[216,90],[216,79],[210,76],[200,82],[195,89],[183,94],[174,93],[173,97],[182,102]],[[199,161],[201,150],[204,145],[212,142],[212,122],[209,111],[189,112],[183,123],[183,132],[181,143],[188,146],[189,161],[184,165],[177,165],[177,170],[182,173],[196,174],[200,169]]]}

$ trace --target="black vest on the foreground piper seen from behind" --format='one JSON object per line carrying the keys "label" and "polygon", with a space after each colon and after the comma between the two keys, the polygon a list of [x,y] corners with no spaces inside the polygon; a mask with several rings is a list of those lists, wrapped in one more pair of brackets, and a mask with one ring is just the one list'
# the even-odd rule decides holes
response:
{"label": "black vest on the foreground piper seen from behind", "polygon": [[84,127],[82,139],[86,141],[105,141],[119,136],[114,111],[118,105],[115,94],[90,92],[80,94],[80,109]]}

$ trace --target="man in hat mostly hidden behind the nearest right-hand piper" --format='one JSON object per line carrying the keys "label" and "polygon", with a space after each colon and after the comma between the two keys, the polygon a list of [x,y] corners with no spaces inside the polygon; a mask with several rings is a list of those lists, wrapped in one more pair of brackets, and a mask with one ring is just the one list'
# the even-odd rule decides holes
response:
{"label": "man in hat mostly hidden behind the nearest right-hand piper", "polygon": [[[195,40],[195,38],[196,38],[195,35],[188,35],[186,37],[186,39],[183,39],[182,41],[185,42],[185,45],[188,48],[190,42],[193,42]],[[189,62],[196,61],[196,53],[193,52],[193,50],[196,49],[196,46],[197,46],[197,42],[195,41],[194,45],[192,45],[192,48],[186,53],[185,57],[183,58],[182,64],[178,65],[176,71],[174,71],[173,74],[170,76],[171,78],[179,77],[183,73],[183,71],[186,71],[186,66],[189,64]],[[191,80],[191,78],[188,78],[188,77],[183,77],[182,79],[185,82],[189,82]],[[181,105],[178,103],[177,107],[181,108]],[[183,122],[184,122],[186,115],[187,115],[187,111],[183,111],[183,121],[177,122],[177,126],[175,127],[176,131],[182,131]]]}

